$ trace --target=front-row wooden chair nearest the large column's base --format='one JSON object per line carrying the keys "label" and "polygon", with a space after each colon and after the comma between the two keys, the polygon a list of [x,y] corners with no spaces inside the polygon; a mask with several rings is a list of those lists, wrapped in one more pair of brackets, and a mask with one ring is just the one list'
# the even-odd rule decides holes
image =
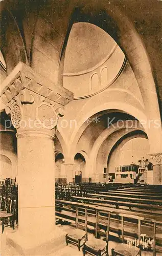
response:
{"label": "front-row wooden chair nearest the large column's base", "polygon": [[87,241],[87,208],[85,207],[85,230],[81,230],[78,228],[78,206],[76,206],[76,229],[66,234],[66,245],[72,243],[80,251],[85,241]]}

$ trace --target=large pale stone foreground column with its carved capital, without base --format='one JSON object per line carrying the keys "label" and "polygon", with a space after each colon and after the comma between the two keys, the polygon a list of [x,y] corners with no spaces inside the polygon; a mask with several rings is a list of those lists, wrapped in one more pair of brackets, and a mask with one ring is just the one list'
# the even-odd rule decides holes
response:
{"label": "large pale stone foreground column with its carved capital, without base", "polygon": [[58,118],[73,98],[70,91],[43,79],[19,63],[2,92],[17,129],[18,232],[23,253],[32,255],[36,252],[25,247],[42,246],[55,229],[53,139]]}

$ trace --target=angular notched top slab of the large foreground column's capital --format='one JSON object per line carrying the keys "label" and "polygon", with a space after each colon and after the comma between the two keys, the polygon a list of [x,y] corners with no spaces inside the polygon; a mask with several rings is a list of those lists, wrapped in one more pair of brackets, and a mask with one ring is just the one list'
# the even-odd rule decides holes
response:
{"label": "angular notched top slab of the large foreground column's capital", "polygon": [[[3,82],[3,88],[1,97],[5,104],[9,103],[24,88],[62,106],[65,106],[73,99],[72,92],[62,86],[54,85],[51,80],[44,79],[22,62],[18,63]],[[28,102],[30,101],[32,101],[32,97],[30,97]]]}

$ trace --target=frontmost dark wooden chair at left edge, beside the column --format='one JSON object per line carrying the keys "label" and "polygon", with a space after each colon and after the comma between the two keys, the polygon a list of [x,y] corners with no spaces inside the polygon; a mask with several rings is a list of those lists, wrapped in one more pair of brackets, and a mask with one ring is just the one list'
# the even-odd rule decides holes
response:
{"label": "frontmost dark wooden chair at left edge, beside the column", "polygon": [[[8,199],[9,201],[9,199]],[[5,226],[8,226],[10,224],[10,227],[15,229],[14,227],[14,221],[16,219],[15,217],[15,208],[16,208],[16,200],[10,199],[9,209],[7,211],[1,211],[0,212],[0,220],[2,223],[2,233],[4,232]]]}

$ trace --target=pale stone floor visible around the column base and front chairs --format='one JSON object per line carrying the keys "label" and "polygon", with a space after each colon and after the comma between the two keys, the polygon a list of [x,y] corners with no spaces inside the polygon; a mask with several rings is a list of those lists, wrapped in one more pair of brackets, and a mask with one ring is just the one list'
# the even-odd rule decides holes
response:
{"label": "pale stone floor visible around the column base and front chairs", "polygon": [[[60,228],[60,231],[63,230],[65,231],[65,233],[69,232],[70,230],[74,229],[74,227],[69,226],[69,225],[58,225],[58,227]],[[4,246],[6,244],[6,232],[16,232],[17,228],[15,228],[15,230],[11,229],[10,227],[5,228],[4,233],[0,234],[0,256],[7,256],[7,255],[16,255],[15,252],[12,252],[12,254],[8,254],[8,253],[1,253],[2,251],[4,251]],[[88,240],[92,239],[94,237],[93,234],[88,233]],[[117,246],[117,242],[113,242],[113,241],[109,241],[109,256],[111,255],[111,248],[114,248],[115,246]],[[58,245],[58,247],[56,248],[55,253],[49,254],[47,256],[81,256],[83,255],[82,253],[82,249],[80,251],[78,251],[77,247],[72,245],[72,244],[68,244],[66,246],[65,242],[62,245]],[[41,255],[37,255],[37,256],[41,256]],[[142,251],[142,256],[152,256],[152,252],[150,251]],[[162,256],[162,253],[156,253],[156,256]]]}

